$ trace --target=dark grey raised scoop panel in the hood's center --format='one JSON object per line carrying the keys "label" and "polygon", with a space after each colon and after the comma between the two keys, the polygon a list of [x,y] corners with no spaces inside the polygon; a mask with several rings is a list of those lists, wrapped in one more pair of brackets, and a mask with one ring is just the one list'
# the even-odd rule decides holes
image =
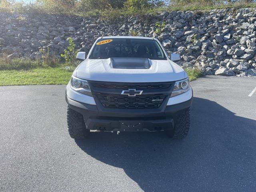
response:
{"label": "dark grey raised scoop panel in the hood's center", "polygon": [[152,62],[148,58],[113,57],[110,66],[114,69],[149,69]]}

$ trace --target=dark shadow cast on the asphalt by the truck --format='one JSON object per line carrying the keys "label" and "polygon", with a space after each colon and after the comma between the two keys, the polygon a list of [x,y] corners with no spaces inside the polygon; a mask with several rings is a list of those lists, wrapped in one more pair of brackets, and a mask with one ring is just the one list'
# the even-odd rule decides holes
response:
{"label": "dark shadow cast on the asphalt by the truck", "polygon": [[184,140],[163,132],[93,132],[76,143],[146,192],[256,189],[256,121],[207,99],[194,98]]}

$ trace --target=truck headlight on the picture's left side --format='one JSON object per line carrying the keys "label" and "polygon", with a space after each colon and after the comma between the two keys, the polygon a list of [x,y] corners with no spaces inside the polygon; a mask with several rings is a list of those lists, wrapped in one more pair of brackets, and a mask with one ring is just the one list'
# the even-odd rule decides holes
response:
{"label": "truck headlight on the picture's left side", "polygon": [[77,92],[80,92],[88,96],[92,96],[92,92],[86,80],[79,79],[72,76],[70,87]]}

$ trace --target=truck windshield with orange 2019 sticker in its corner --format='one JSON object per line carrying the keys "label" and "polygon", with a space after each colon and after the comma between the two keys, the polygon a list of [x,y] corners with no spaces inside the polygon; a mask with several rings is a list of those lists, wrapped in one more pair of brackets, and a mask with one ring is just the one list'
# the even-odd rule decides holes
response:
{"label": "truck windshield with orange 2019 sticker in its corner", "polygon": [[90,59],[107,59],[110,57],[149,58],[166,60],[164,51],[156,40],[150,39],[99,39],[94,46]]}

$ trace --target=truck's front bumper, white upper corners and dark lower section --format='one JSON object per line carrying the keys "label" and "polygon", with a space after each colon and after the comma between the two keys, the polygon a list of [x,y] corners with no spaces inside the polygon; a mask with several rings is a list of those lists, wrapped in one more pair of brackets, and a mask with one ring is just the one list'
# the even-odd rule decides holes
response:
{"label": "truck's front bumper, white upper corners and dark lower section", "polygon": [[111,110],[102,111],[96,105],[85,104],[70,99],[66,102],[71,109],[82,114],[86,128],[104,131],[160,131],[174,127],[175,118],[190,108],[193,97],[185,102],[166,106],[164,110]]}

